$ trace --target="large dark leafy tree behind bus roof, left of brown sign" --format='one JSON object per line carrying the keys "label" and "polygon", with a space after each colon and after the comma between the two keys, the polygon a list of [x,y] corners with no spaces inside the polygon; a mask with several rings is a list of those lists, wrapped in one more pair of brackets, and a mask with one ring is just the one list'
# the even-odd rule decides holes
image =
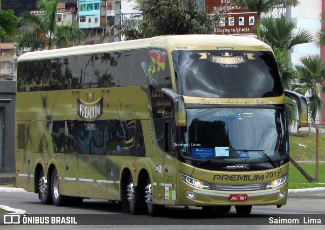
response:
{"label": "large dark leafy tree behind bus roof, left of brown sign", "polygon": [[160,35],[212,34],[221,14],[207,14],[196,1],[137,0],[134,10],[138,26],[114,25],[112,29],[126,40]]}

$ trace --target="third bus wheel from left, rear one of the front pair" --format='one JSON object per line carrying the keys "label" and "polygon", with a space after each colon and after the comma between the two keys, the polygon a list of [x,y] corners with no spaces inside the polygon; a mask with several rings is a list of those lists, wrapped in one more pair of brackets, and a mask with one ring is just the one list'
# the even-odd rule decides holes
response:
{"label": "third bus wheel from left, rear one of the front pair", "polygon": [[126,186],[126,199],[128,202],[128,206],[131,214],[137,215],[141,213],[140,209],[140,194],[137,186],[134,186],[132,175],[129,174],[128,182]]}

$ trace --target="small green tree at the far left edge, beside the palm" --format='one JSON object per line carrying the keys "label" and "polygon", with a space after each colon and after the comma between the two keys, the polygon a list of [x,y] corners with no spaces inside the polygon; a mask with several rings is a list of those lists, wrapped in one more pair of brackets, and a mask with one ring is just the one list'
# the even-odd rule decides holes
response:
{"label": "small green tree at the far left edge, beside the palm", "polygon": [[14,35],[18,18],[12,10],[0,10],[0,39],[6,40]]}

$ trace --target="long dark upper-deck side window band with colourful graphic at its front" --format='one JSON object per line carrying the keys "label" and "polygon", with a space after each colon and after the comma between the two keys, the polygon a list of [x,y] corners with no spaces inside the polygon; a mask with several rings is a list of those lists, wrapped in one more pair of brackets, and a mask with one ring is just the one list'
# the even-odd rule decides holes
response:
{"label": "long dark upper-deck side window band with colourful graphic at its front", "polygon": [[166,52],[158,49],[18,62],[18,91],[159,85],[171,88]]}

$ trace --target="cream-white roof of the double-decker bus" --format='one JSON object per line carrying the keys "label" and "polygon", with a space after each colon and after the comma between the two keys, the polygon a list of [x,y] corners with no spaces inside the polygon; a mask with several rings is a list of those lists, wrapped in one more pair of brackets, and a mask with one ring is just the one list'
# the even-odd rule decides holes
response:
{"label": "cream-white roof of the double-decker bus", "polygon": [[26,52],[19,57],[18,61],[117,52],[143,48],[162,48],[169,52],[178,49],[234,49],[271,51],[271,48],[267,44],[254,38],[230,35],[168,35],[132,41],[81,45],[70,48]]}

